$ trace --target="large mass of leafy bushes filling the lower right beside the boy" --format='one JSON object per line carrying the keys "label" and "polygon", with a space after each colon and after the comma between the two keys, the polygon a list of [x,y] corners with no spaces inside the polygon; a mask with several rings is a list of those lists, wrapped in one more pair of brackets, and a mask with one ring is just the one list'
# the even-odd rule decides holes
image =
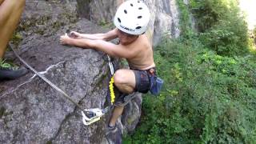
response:
{"label": "large mass of leafy bushes filling the lower right beside the boy", "polygon": [[256,142],[256,64],[192,42],[166,41],[155,51],[165,87],[144,97],[133,143]]}

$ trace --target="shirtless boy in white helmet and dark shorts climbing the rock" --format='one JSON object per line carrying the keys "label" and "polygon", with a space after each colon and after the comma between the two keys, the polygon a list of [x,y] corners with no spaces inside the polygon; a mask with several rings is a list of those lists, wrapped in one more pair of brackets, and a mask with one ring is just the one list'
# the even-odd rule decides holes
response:
{"label": "shirtless boy in white helmet and dark shorts climbing the rock", "polygon": [[[78,46],[101,50],[110,56],[126,58],[130,70],[117,70],[114,74],[114,85],[124,94],[134,91],[147,93],[150,89],[150,72],[155,73],[153,50],[146,35],[146,26],[150,20],[150,11],[141,1],[129,0],[122,3],[114,17],[116,28],[106,34],[79,34],[71,32],[74,37],[62,35],[62,45]],[[118,38],[119,44],[110,41]],[[122,114],[124,106],[115,106],[110,118],[109,128],[115,128],[115,122]]]}

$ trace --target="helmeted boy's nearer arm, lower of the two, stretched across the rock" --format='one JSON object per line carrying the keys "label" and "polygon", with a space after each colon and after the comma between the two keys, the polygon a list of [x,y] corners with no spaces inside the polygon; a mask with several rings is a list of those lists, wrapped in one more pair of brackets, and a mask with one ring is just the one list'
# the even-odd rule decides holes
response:
{"label": "helmeted boy's nearer arm, lower of the two, stretched across the rock", "polygon": [[67,35],[61,36],[60,40],[63,45],[67,44],[71,46],[100,50],[106,54],[119,58],[132,58],[134,54],[137,53],[133,50],[127,49],[125,46],[115,45],[104,40],[76,39],[69,38]]}

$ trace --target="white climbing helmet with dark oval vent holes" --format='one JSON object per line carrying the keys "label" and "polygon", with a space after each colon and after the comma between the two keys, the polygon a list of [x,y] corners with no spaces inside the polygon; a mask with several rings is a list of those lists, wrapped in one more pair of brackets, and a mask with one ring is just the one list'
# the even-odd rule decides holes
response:
{"label": "white climbing helmet with dark oval vent holes", "polygon": [[139,0],[123,2],[114,16],[114,25],[127,34],[145,33],[149,21],[150,10]]}

